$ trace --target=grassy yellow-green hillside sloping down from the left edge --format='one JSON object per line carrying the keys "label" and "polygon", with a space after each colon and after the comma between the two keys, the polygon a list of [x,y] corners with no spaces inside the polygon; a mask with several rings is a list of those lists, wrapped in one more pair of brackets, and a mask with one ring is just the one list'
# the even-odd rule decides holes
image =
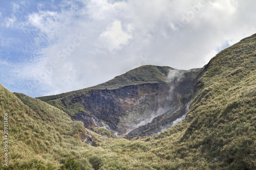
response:
{"label": "grassy yellow-green hillside sloping down from the left edge", "polygon": [[[81,142],[88,135],[82,123],[72,122],[45,102],[15,94],[19,99],[0,84],[0,169],[57,169],[78,158],[85,169],[92,169],[79,153],[89,147]],[[4,113],[8,113],[8,166],[3,160]]]}

